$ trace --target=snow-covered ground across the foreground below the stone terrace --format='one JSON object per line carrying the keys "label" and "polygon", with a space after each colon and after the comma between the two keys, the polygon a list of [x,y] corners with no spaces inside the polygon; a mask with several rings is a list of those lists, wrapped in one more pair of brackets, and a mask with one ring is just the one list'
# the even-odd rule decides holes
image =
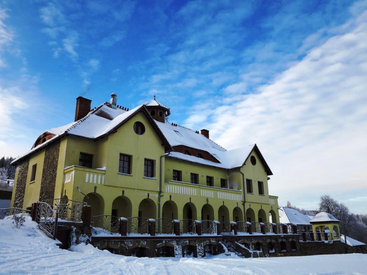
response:
{"label": "snow-covered ground across the foreground below the stone terrace", "polygon": [[29,219],[0,220],[0,274],[367,274],[367,254],[278,258],[136,258],[80,244],[59,249]]}

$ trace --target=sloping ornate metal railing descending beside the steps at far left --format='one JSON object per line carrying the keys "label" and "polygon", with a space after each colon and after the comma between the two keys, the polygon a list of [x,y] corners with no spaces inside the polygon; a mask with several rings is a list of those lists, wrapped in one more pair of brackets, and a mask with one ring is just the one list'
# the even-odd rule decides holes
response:
{"label": "sloping ornate metal railing descending beside the steps at far left", "polygon": [[58,212],[46,202],[37,202],[36,221],[50,238],[56,239]]}

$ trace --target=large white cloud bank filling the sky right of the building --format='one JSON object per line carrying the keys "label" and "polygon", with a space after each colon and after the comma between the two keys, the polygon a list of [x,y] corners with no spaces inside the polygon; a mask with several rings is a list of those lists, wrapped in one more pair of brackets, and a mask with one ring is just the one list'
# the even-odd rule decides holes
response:
{"label": "large white cloud bank filling the sky right of the building", "polygon": [[[229,85],[231,96],[197,104],[186,124],[210,129],[229,149],[257,143],[274,173],[270,194],[281,203],[302,207],[324,193],[342,200],[345,190],[367,192],[366,37],[364,12],[273,83],[247,95],[246,81]],[[207,104],[219,107],[204,123]]]}

